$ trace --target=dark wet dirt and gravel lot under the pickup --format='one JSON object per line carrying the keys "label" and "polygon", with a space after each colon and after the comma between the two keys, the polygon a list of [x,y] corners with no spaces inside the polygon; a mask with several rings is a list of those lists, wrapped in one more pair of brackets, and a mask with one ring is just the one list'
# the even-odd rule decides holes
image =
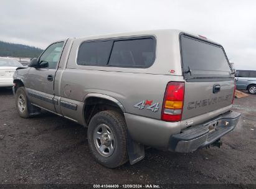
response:
{"label": "dark wet dirt and gravel lot under the pickup", "polygon": [[256,95],[235,99],[234,109],[242,117],[220,149],[148,149],[138,164],[109,169],[90,155],[87,129],[50,113],[22,119],[12,91],[0,88],[0,183],[256,184]]}

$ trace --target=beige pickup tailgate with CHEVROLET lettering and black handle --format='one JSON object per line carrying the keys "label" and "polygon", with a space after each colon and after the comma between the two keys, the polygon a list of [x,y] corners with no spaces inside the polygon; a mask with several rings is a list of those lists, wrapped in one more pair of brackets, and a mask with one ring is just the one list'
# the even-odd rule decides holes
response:
{"label": "beige pickup tailgate with CHEVROLET lettering and black handle", "polygon": [[183,119],[224,108],[232,104],[234,80],[186,82]]}

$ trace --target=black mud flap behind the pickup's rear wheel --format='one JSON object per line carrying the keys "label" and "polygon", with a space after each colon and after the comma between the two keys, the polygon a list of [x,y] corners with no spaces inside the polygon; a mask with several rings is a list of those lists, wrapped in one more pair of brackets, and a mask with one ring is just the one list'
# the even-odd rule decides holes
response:
{"label": "black mud flap behind the pickup's rear wheel", "polygon": [[144,145],[133,141],[129,133],[128,133],[128,154],[129,154],[129,160],[131,165],[136,164],[137,162],[140,162],[140,160],[142,160],[145,157]]}

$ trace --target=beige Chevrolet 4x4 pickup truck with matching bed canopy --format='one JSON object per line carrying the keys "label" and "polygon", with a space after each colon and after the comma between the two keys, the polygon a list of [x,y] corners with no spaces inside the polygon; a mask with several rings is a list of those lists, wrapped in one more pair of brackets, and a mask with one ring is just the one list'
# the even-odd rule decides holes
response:
{"label": "beige Chevrolet 4x4 pickup truck with matching bed canopy", "polygon": [[111,168],[140,161],[145,146],[220,147],[240,117],[224,48],[180,30],[60,40],[13,78],[22,118],[46,109],[88,127],[93,157]]}

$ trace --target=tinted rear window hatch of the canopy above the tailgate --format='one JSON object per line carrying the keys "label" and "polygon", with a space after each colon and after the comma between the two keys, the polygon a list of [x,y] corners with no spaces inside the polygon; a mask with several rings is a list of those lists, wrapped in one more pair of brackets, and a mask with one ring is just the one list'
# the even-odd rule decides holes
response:
{"label": "tinted rear window hatch of the canopy above the tailgate", "polygon": [[185,77],[229,77],[232,71],[219,45],[183,34],[181,54]]}

